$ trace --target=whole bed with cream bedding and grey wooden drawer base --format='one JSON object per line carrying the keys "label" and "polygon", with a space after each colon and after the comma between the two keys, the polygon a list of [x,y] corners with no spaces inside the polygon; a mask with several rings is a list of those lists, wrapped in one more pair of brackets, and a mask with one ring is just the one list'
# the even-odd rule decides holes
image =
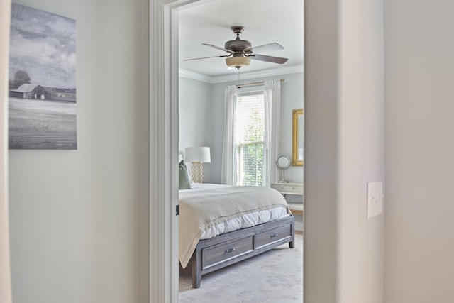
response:
{"label": "whole bed with cream bedding and grey wooden drawer base", "polygon": [[294,216],[277,190],[197,183],[179,190],[179,262],[192,287],[284,243],[294,248]]}

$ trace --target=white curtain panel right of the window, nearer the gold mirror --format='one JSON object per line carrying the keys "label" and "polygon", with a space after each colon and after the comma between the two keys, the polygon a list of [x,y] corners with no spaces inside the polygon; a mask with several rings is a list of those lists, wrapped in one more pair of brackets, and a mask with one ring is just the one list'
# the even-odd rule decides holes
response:
{"label": "white curtain panel right of the window, nearer the gold mirror", "polygon": [[265,81],[265,150],[263,160],[263,186],[270,187],[279,180],[276,160],[279,153],[279,125],[281,108],[280,80]]}

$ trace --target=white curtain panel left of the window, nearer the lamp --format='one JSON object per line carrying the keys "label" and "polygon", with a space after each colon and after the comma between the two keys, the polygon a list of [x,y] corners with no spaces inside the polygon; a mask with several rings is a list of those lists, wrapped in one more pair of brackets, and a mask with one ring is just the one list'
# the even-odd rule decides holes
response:
{"label": "white curtain panel left of the window, nearer the lamp", "polygon": [[235,123],[236,112],[236,85],[226,87],[224,97],[224,142],[222,150],[221,183],[236,185],[236,157],[235,157]]}

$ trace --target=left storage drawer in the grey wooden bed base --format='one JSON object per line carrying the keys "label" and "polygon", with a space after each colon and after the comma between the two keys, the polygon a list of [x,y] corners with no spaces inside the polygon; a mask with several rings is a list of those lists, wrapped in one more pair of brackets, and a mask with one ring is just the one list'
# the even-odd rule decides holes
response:
{"label": "left storage drawer in the grey wooden bed base", "polygon": [[222,263],[226,260],[237,258],[240,255],[254,250],[254,236],[246,236],[228,241],[226,243],[216,244],[201,250],[201,268],[205,270],[211,266]]}

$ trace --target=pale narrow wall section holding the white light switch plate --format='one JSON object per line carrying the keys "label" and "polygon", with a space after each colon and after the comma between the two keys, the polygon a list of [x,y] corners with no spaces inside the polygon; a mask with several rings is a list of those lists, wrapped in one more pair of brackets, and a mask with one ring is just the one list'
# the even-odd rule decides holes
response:
{"label": "pale narrow wall section holding the white light switch plate", "polygon": [[384,180],[383,3],[340,2],[338,301],[382,303],[384,215],[367,219],[367,182]]}

